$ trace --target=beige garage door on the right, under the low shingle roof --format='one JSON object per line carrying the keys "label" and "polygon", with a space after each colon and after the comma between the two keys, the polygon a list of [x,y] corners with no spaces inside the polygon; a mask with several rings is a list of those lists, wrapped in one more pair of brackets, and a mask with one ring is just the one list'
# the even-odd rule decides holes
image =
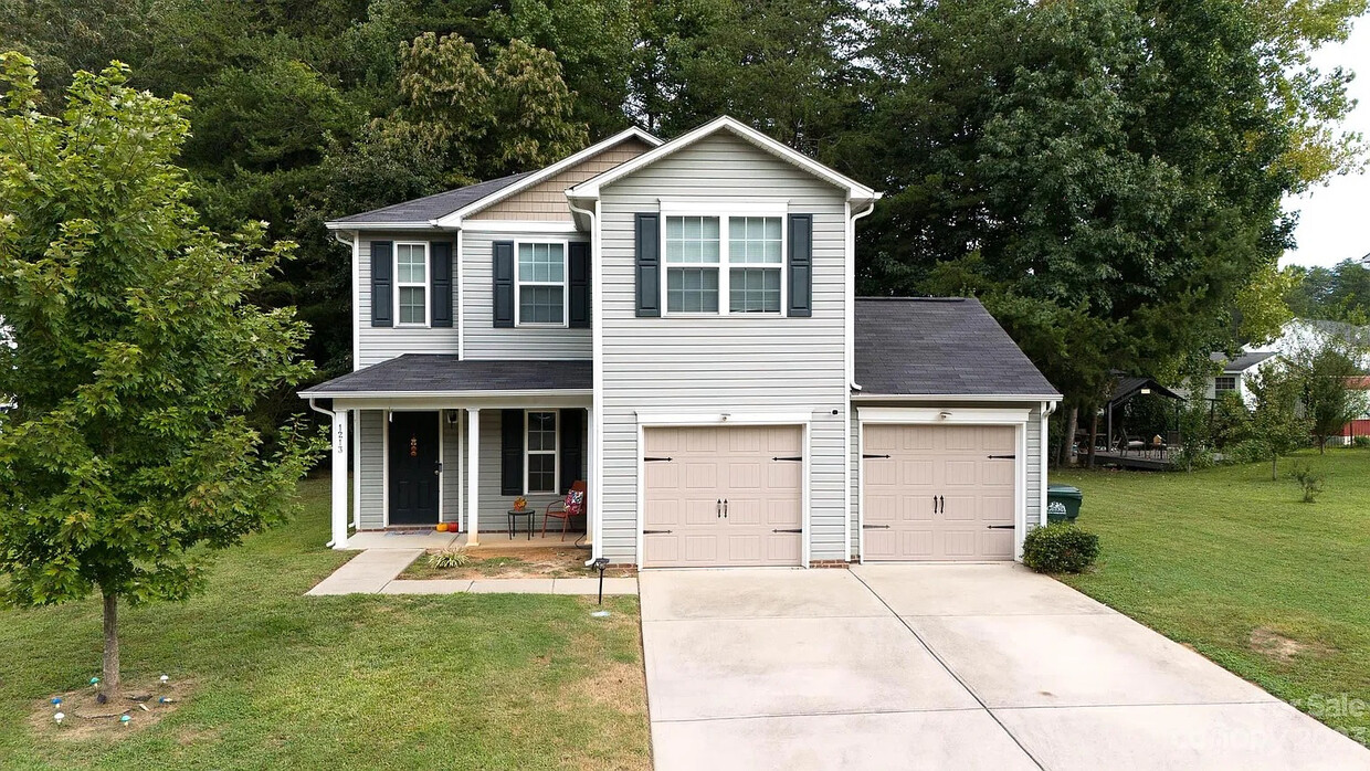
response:
{"label": "beige garage door on the right, under the low shingle roof", "polygon": [[1012,426],[863,427],[864,559],[1014,557]]}

